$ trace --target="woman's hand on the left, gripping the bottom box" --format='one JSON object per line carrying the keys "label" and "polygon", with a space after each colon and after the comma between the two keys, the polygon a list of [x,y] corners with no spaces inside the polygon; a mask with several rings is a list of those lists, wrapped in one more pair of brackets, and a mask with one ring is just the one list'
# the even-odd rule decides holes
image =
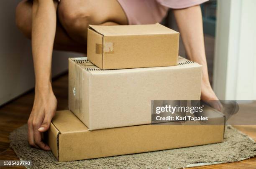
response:
{"label": "woman's hand on the left, gripping the bottom box", "polygon": [[33,109],[28,119],[28,142],[31,146],[50,150],[42,141],[42,132],[49,129],[56,107],[57,99],[51,88],[35,89]]}

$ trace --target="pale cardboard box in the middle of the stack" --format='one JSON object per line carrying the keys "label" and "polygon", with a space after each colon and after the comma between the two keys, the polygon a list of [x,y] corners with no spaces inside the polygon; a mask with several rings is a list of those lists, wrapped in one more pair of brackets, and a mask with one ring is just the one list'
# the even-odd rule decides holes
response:
{"label": "pale cardboard box in the middle of the stack", "polygon": [[151,100],[200,100],[201,65],[100,70],[69,58],[69,110],[90,129],[151,123]]}

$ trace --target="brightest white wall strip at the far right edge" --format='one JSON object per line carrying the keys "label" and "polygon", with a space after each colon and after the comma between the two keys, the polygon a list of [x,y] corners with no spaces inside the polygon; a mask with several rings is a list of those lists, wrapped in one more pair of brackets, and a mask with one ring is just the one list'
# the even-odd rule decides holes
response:
{"label": "brightest white wall strip at the far right edge", "polygon": [[256,99],[256,0],[241,0],[236,99]]}

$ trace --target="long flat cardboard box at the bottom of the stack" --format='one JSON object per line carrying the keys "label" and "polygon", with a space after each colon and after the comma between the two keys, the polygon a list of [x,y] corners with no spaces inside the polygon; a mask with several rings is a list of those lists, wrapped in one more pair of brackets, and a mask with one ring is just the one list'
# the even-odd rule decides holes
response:
{"label": "long flat cardboard box at the bottom of the stack", "polygon": [[72,112],[58,111],[46,140],[60,162],[223,142],[225,118],[208,111],[222,125],[192,125],[192,121],[190,125],[147,124],[94,131]]}

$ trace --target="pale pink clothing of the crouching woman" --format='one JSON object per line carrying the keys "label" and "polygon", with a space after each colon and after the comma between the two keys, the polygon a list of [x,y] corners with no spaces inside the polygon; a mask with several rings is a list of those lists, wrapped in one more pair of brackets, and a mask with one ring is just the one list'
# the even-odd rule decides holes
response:
{"label": "pale pink clothing of the crouching woman", "polygon": [[118,0],[129,25],[161,22],[169,8],[182,9],[208,0]]}

